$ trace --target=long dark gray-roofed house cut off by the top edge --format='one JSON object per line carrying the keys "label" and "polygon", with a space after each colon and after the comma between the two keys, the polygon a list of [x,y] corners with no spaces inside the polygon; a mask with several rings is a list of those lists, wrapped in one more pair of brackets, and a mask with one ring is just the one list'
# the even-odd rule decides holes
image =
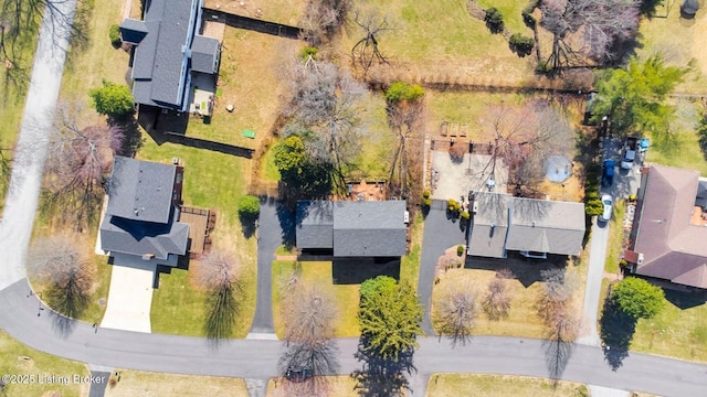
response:
{"label": "long dark gray-roofed house cut off by the top edge", "polygon": [[135,101],[186,111],[193,100],[192,88],[197,88],[192,79],[215,84],[221,44],[199,34],[203,0],[148,0],[144,4],[141,21],[126,19],[120,24],[123,41],[134,45]]}

